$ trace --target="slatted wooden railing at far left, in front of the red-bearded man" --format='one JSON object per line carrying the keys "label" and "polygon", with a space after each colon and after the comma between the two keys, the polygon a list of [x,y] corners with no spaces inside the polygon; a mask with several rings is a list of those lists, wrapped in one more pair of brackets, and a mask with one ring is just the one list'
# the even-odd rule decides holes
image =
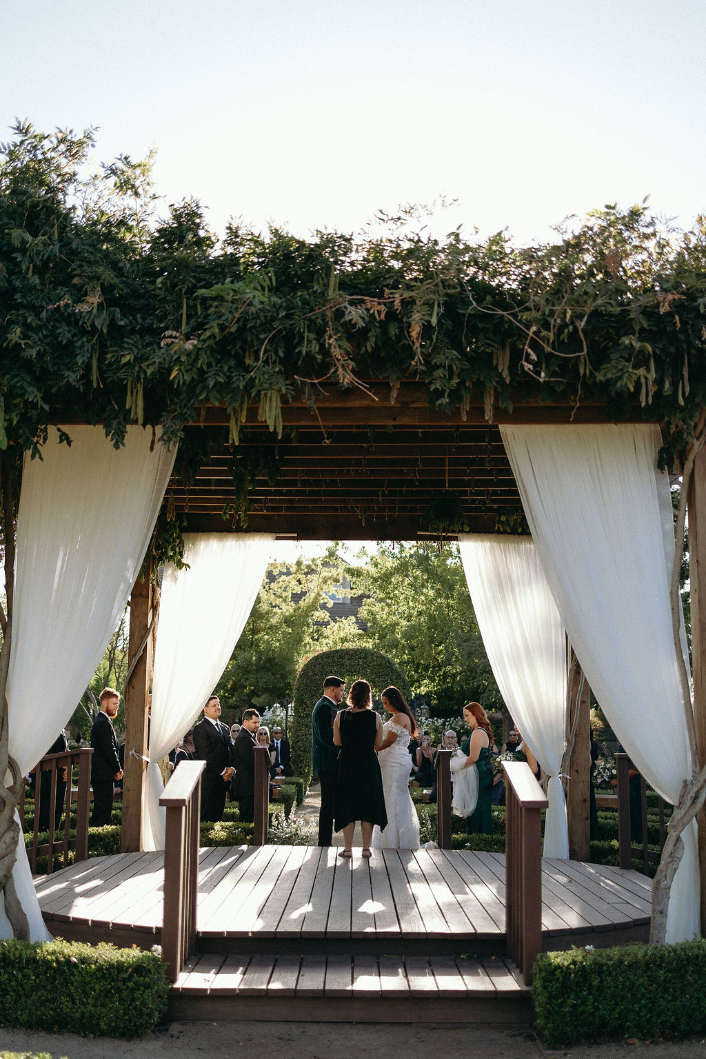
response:
{"label": "slatted wooden railing at far left, in front of the red-bearded man", "polygon": [[[33,874],[37,870],[37,858],[47,857],[47,873],[54,870],[54,855],[59,854],[62,867],[69,864],[69,852],[73,850],[74,861],[86,860],[88,857],[88,811],[91,804],[91,755],[92,748],[72,750],[68,753],[48,754],[35,765],[34,774],[34,827],[32,845],[28,848],[28,857]],[[74,772],[76,779],[76,837],[69,838],[71,831],[71,803],[73,800]],[[43,779],[43,783],[42,783]],[[57,815],[57,783],[66,779],[62,796],[64,825],[56,828]],[[43,788],[43,790],[42,790]],[[49,841],[39,844],[39,816],[42,808],[47,808],[49,800],[48,827]],[[20,820],[24,818],[25,790],[22,785],[19,801]],[[59,819],[61,813],[58,814]]]}

